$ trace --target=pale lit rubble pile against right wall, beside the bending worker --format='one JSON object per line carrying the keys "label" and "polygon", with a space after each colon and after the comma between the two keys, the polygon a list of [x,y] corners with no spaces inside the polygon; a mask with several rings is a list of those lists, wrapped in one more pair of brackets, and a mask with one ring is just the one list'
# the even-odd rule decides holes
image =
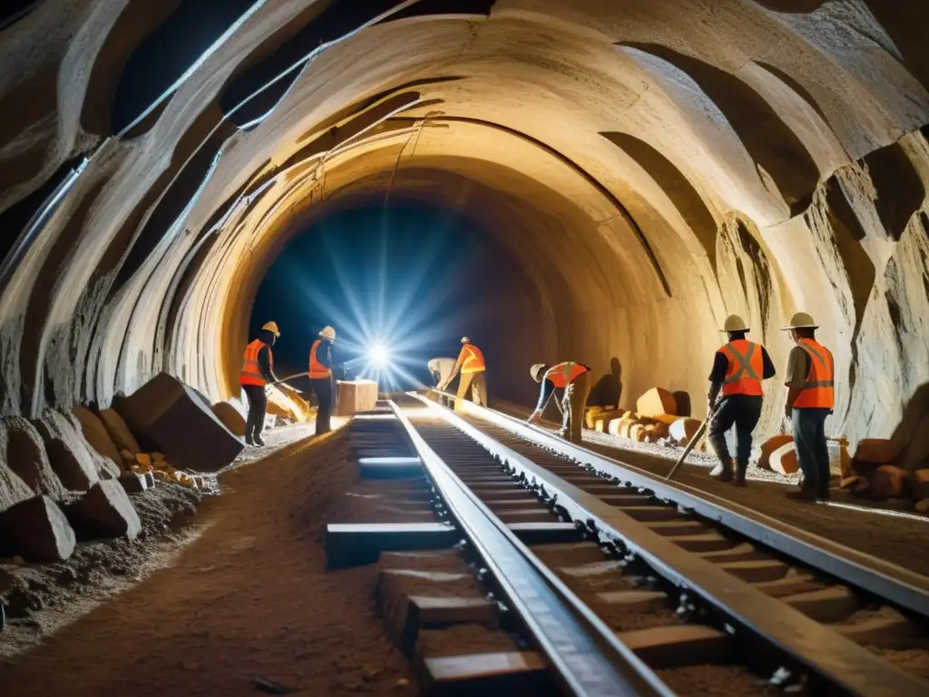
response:
{"label": "pale lit rubble pile against right wall, beside the bending worker", "polygon": [[585,425],[632,441],[686,445],[703,422],[689,417],[683,401],[667,389],[651,388],[635,402],[635,412],[612,406],[589,407]]}

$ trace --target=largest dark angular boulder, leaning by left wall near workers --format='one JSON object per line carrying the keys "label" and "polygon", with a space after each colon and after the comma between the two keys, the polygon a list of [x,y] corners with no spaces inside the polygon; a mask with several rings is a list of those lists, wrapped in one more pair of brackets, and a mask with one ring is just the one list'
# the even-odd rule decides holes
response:
{"label": "largest dark angular boulder, leaning by left wall near workers", "polygon": [[214,472],[244,448],[213,414],[212,404],[167,373],[155,375],[117,409],[139,438],[178,469]]}

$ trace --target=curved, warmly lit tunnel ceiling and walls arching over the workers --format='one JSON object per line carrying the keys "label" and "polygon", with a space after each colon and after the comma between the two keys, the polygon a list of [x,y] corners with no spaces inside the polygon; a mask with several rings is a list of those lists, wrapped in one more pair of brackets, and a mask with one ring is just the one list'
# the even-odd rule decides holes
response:
{"label": "curved, warmly lit tunnel ceiling and walls arching over the workers", "polygon": [[782,360],[803,308],[851,437],[929,381],[922,4],[259,0],[200,59],[145,59],[196,34],[189,3],[5,18],[4,411],[163,369],[228,398],[289,236],[390,196],[518,259],[507,360],[616,356],[627,399],[699,394],[726,312]]}

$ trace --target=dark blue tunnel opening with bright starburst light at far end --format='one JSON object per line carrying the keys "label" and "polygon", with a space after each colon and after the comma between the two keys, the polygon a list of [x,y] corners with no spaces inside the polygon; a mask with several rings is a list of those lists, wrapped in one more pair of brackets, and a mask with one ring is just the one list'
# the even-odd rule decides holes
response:
{"label": "dark blue tunnel opening with bright starburst light at far end", "polygon": [[[491,334],[504,331],[514,294],[526,290],[516,268],[459,211],[402,199],[361,205],[310,225],[283,249],[255,296],[249,335],[278,323],[282,378],[307,370],[311,344],[332,325],[335,377],[370,377],[382,391],[431,385],[427,362],[456,358],[468,335],[487,355],[491,384],[508,385],[514,366],[494,368]],[[387,350],[387,370],[369,360],[376,345]],[[293,384],[309,387],[305,377]]]}

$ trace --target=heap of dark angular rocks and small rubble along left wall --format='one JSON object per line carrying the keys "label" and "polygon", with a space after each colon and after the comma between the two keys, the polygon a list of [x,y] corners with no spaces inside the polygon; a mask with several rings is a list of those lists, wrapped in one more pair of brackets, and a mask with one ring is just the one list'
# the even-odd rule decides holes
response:
{"label": "heap of dark angular rocks and small rubble along left wall", "polygon": [[213,405],[161,374],[112,408],[75,405],[0,421],[0,558],[69,559],[78,542],[134,540],[134,497],[154,486],[205,489],[242,452]]}

